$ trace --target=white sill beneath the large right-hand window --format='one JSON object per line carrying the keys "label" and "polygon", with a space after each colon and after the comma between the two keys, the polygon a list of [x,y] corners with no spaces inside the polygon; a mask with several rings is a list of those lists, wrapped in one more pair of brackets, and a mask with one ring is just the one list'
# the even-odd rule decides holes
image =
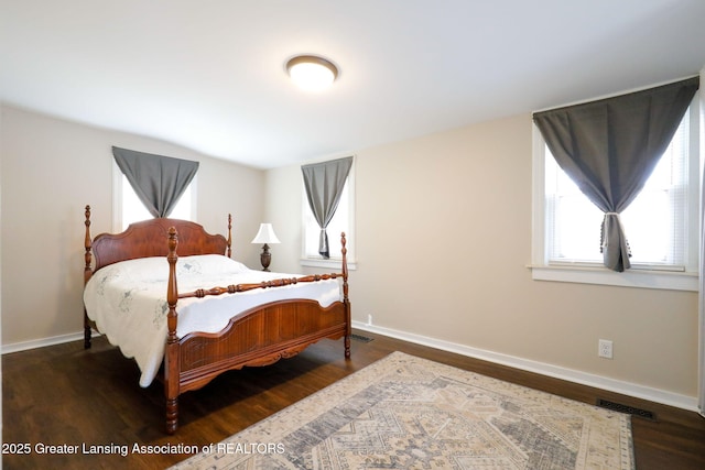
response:
{"label": "white sill beneath the large right-hand window", "polygon": [[534,281],[601,284],[669,291],[698,291],[698,275],[691,272],[629,270],[617,273],[604,267],[529,265]]}

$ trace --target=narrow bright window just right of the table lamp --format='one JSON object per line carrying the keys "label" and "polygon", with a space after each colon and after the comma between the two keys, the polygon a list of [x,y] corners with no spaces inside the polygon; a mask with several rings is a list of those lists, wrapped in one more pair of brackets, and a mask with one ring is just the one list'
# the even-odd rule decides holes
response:
{"label": "narrow bright window just right of the table lamp", "polygon": [[355,269],[355,163],[352,163],[350,173],[345,182],[345,187],[343,188],[340,201],[338,203],[335,215],[326,229],[330,251],[330,258],[328,260],[324,260],[321,254],[318,254],[321,228],[318,227],[318,222],[316,222],[311,207],[308,206],[306,189],[303,183],[301,190],[303,208],[303,247],[301,264],[314,267],[339,267],[341,259],[340,232],[345,232],[346,248],[348,250],[348,269]]}

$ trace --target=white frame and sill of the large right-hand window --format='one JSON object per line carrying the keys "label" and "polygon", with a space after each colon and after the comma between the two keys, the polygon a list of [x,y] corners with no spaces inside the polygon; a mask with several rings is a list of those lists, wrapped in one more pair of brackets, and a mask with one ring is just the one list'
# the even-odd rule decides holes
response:
{"label": "white frame and sill of the large right-hand window", "polygon": [[642,287],[655,289],[698,289],[699,256],[699,175],[701,175],[701,120],[699,97],[691,102],[690,156],[688,156],[688,237],[687,260],[682,272],[659,270],[655,265],[637,265],[625,272],[615,272],[599,264],[550,264],[546,245],[545,212],[545,141],[532,124],[532,262],[529,266],[535,281],[570,282],[585,284]]}

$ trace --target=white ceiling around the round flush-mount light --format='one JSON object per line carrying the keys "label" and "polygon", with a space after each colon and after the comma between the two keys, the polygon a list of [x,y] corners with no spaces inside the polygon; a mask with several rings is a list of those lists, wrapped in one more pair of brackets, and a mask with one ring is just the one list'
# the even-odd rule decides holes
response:
{"label": "white ceiling around the round flush-mount light", "polygon": [[[311,53],[326,92],[288,80]],[[0,0],[3,102],[260,168],[703,66],[703,0]]]}

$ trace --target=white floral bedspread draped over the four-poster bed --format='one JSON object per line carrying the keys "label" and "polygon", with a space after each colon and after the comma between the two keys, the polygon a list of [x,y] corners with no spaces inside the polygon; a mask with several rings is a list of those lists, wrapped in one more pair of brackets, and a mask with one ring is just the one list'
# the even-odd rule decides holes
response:
{"label": "white floral bedspread draped over the four-poster bed", "polygon": [[[217,254],[182,256],[176,264],[176,281],[182,293],[299,276],[301,274],[253,271]],[[84,291],[88,317],[96,321],[110,343],[118,346],[126,357],[135,359],[142,372],[141,386],[152,383],[164,357],[169,332],[167,281],[165,258],[143,258],[102,267]],[[242,311],[291,298],[314,299],[327,307],[341,299],[339,280],[180,299],[176,334],[183,338],[193,331],[218,332]]]}

